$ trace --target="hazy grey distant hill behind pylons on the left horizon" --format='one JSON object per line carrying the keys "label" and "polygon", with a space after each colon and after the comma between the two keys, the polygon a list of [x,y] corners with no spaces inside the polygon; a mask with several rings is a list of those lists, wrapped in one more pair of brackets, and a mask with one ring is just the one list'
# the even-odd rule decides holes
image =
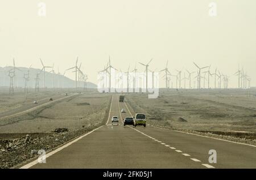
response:
{"label": "hazy grey distant hill behind pylons on the left horizon", "polygon": [[[10,77],[8,76],[9,70],[13,68],[11,66],[0,67],[0,87],[10,85]],[[19,70],[15,70],[15,80],[16,87],[24,87],[24,73],[27,73],[27,67],[17,67]],[[35,78],[36,74],[41,70],[38,68],[30,68],[30,80],[28,81],[28,87],[35,87]],[[43,71],[39,74],[39,87],[43,87]],[[46,87],[52,88],[52,73],[46,72]],[[69,79],[66,76],[53,74],[53,87],[54,88],[74,88],[75,80]],[[87,82],[88,88],[97,88],[97,85],[94,83]]]}

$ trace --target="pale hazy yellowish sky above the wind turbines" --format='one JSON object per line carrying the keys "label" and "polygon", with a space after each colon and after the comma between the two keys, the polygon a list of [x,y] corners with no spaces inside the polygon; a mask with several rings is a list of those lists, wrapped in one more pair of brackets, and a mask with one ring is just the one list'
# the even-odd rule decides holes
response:
{"label": "pale hazy yellowish sky above the wind turbines", "polygon": [[[38,15],[39,2],[46,3],[46,16]],[[217,16],[209,16],[210,2],[216,2]],[[1,67],[15,58],[16,66],[41,68],[42,58],[63,73],[79,56],[94,83],[110,55],[123,71],[151,58],[151,69],[162,70],[168,59],[174,74],[196,70],[193,61],[211,64],[212,71],[218,67],[230,76],[233,87],[240,64],[255,86],[256,1],[1,0],[0,48]]]}

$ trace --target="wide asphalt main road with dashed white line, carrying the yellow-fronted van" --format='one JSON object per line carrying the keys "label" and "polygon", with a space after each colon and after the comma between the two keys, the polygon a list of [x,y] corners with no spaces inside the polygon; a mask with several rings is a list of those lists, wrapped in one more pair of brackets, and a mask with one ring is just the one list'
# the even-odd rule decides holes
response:
{"label": "wide asphalt main road with dashed white line, carrying the yellow-fronted van", "polygon": [[[125,108],[127,113],[120,113]],[[22,168],[255,168],[255,147],[154,127],[112,126],[111,117],[131,116],[113,95],[109,121],[90,134],[49,153],[45,164]],[[217,164],[208,151],[216,149]],[[250,157],[252,156],[252,157]],[[250,157],[250,158],[249,158]]]}

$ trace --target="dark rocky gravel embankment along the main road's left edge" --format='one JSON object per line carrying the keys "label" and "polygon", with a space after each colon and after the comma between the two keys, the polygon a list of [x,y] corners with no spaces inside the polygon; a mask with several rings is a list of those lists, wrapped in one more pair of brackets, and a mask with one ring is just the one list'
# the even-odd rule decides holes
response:
{"label": "dark rocky gravel embankment along the main road's left edge", "polygon": [[38,155],[43,149],[46,152],[52,151],[61,144],[93,130],[101,124],[91,127],[84,127],[80,130],[67,130],[59,128],[52,135],[43,138],[32,138],[30,135],[14,140],[0,140],[0,168],[12,168]]}

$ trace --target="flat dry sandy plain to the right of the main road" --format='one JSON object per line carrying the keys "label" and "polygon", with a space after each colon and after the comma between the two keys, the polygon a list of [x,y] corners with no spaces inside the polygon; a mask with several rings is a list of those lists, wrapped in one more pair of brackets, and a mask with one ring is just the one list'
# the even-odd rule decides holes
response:
{"label": "flat dry sandy plain to the right of the main road", "polygon": [[[250,94],[249,94],[250,93]],[[256,132],[256,91],[160,91],[159,98],[128,95],[148,123],[181,130]]]}

